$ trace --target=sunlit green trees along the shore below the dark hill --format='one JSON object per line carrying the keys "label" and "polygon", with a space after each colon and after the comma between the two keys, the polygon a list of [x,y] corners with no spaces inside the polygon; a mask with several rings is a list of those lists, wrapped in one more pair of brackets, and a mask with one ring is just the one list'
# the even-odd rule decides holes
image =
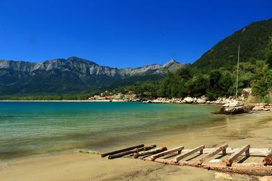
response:
{"label": "sunlit green trees along the shore below the dark hill", "polygon": [[[252,95],[263,102],[271,102],[272,91],[272,42],[267,45],[261,58],[249,58],[239,65],[239,93],[243,88],[252,88]],[[156,82],[123,86],[119,91],[133,91],[143,99],[157,97],[199,97],[210,100],[217,97],[234,96],[236,91],[236,65],[230,68],[206,70],[190,66]]]}

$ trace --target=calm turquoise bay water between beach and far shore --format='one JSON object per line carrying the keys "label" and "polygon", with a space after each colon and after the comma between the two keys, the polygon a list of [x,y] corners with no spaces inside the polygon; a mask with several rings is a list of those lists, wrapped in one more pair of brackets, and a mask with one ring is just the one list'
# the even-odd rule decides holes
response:
{"label": "calm turquoise bay water between beach and far shore", "polygon": [[141,102],[0,102],[0,159],[108,146],[219,123],[214,106]]}

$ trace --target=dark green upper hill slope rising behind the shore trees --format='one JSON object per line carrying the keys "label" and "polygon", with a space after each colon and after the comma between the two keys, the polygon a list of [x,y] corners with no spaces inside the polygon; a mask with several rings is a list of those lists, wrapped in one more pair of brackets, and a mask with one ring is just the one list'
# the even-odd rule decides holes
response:
{"label": "dark green upper hill slope rising behind the shore trees", "polygon": [[205,52],[192,67],[215,69],[232,68],[237,62],[238,45],[241,45],[241,62],[251,57],[263,58],[264,49],[272,38],[272,19],[254,22],[218,42]]}

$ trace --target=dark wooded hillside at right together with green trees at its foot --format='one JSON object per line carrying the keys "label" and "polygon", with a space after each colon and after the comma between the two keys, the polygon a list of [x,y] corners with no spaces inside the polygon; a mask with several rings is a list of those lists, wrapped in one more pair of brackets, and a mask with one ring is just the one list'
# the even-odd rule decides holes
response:
{"label": "dark wooded hillside at right together with green trees at its foot", "polygon": [[211,100],[234,96],[238,45],[241,45],[239,93],[252,88],[264,102],[271,102],[272,90],[272,19],[255,22],[236,31],[206,52],[199,60],[177,72],[169,72],[160,81],[135,84],[133,90],[144,99],[201,95]]}

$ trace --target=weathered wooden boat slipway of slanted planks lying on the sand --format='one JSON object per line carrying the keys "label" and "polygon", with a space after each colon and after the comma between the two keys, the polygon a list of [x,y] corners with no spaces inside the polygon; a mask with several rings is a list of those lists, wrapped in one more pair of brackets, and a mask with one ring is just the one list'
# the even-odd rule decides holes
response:
{"label": "weathered wooden boat slipway of slanted planks lying on the sand", "polygon": [[[250,145],[235,149],[228,148],[227,144],[220,145],[218,148],[205,148],[205,145],[199,145],[192,149],[185,149],[181,145],[168,150],[166,147],[157,148],[156,145],[142,144],[101,154],[101,157],[107,156],[108,159],[137,158],[176,166],[195,166],[225,173],[272,175],[271,148],[250,148]],[[250,157],[261,159],[259,162],[244,163]]]}

